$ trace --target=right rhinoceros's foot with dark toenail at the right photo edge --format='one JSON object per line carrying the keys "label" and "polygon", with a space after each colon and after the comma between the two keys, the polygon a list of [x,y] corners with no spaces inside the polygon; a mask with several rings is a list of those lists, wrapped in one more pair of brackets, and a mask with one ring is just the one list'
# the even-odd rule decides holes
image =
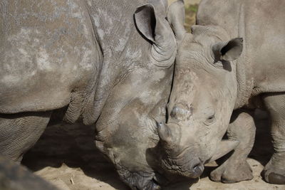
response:
{"label": "right rhinoceros's foot with dark toenail at the right photo edge", "polygon": [[264,180],[269,184],[285,184],[285,169],[284,167],[276,167],[271,162],[266,164],[261,172]]}

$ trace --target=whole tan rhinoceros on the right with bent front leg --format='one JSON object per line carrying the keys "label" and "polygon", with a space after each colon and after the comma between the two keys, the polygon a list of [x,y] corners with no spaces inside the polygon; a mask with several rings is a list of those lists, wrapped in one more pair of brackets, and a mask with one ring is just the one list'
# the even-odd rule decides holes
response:
{"label": "whole tan rhinoceros on the right with bent front leg", "polygon": [[[182,25],[183,1],[170,6],[179,48],[169,119],[159,128],[167,171],[197,177],[204,163],[234,149],[211,179],[252,179],[246,161],[255,135],[249,110],[264,107],[274,143],[264,179],[285,184],[284,6],[281,0],[204,0],[192,33]],[[226,132],[229,139],[222,140]]]}

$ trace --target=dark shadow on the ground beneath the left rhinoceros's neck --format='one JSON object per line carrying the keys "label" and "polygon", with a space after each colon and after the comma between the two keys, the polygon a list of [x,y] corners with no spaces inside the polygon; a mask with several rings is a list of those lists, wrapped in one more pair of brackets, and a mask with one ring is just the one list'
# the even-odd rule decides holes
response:
{"label": "dark shadow on the ground beneath the left rhinoceros's neck", "polygon": [[[41,139],[24,155],[22,164],[32,171],[66,165],[69,168],[81,169],[86,176],[110,184],[115,189],[128,189],[120,181],[113,164],[95,148],[93,140],[94,131],[91,126],[48,126]],[[68,179],[64,182],[73,183]]]}

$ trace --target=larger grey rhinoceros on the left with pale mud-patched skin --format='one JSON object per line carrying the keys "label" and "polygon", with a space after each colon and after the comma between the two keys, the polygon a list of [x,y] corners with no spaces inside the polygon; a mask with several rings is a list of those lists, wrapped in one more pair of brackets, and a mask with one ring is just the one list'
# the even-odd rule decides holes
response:
{"label": "larger grey rhinoceros on the left with pale mud-patched skin", "polygon": [[177,52],[166,7],[2,0],[1,154],[21,161],[63,107],[67,122],[96,124],[96,146],[131,189],[158,189],[146,150],[159,141],[155,120],[165,120]]}

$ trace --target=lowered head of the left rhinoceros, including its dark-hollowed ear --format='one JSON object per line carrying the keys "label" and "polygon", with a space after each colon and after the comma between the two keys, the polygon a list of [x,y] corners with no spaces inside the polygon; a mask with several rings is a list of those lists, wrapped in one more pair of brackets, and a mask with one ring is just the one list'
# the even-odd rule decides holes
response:
{"label": "lowered head of the left rhinoceros, including its dark-hollowed ear", "polygon": [[97,122],[96,146],[132,189],[157,188],[150,167],[155,157],[147,149],[159,142],[155,120],[165,120],[177,53],[164,2],[155,0],[136,9],[136,31],[130,33],[135,37],[128,40],[123,58],[132,63],[131,69],[113,87]]}

